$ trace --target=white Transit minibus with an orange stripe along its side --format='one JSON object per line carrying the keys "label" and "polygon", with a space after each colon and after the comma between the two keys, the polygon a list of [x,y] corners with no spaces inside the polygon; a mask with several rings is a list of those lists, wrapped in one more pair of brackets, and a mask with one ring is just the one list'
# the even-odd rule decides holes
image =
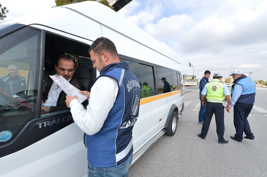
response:
{"label": "white Transit minibus with an orange stripe along its side", "polygon": [[[76,59],[75,76],[90,91],[99,72],[88,49],[101,36],[115,43],[120,61],[128,64],[141,87],[146,82],[151,88],[140,100],[132,164],[163,134],[175,134],[184,87],[174,51],[103,4],[51,8],[0,23],[1,177],[87,176],[83,131],[69,109],[59,109],[64,103],[43,110],[42,93],[49,75],[55,74],[56,54],[62,52]],[[10,67],[17,68],[16,86],[14,80],[7,83],[14,79]],[[162,78],[170,84],[167,93]]]}

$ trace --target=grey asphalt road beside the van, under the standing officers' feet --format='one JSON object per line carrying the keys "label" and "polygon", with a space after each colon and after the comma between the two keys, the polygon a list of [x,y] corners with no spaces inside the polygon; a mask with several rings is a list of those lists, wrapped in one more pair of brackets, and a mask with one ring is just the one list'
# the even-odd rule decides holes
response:
{"label": "grey asphalt road beside the van, under the standing officers' feet", "polygon": [[[230,89],[230,88],[229,88]],[[188,90],[187,90],[188,91]],[[183,116],[178,120],[176,134],[163,135],[129,169],[131,177],[257,177],[267,176],[267,88],[257,88],[256,101],[248,121],[255,140],[232,140],[235,134],[233,110],[225,110],[224,138],[228,144],[218,144],[215,117],[206,139],[200,139],[198,124],[199,90],[185,93]]]}

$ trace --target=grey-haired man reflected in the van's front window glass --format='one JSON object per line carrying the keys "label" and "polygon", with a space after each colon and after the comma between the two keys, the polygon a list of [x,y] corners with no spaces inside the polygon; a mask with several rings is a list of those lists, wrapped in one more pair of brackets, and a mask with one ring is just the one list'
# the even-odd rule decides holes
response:
{"label": "grey-haired man reflected in the van's front window glass", "polygon": [[8,72],[9,74],[7,76],[4,76],[0,79],[0,87],[11,96],[14,96],[17,93],[24,91],[26,89],[25,78],[19,76],[19,68],[17,67],[17,65],[8,65]]}

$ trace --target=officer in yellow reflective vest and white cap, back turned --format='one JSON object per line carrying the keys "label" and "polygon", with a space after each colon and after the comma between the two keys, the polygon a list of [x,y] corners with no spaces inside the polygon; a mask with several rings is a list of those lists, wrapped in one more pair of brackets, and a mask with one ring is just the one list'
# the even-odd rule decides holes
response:
{"label": "officer in yellow reflective vest and white cap, back turned", "polygon": [[[225,144],[228,140],[223,138],[224,135],[224,100],[227,101],[226,108],[230,108],[230,93],[227,85],[221,82],[222,74],[220,72],[213,73],[213,82],[207,83],[201,92],[201,102],[206,105],[204,123],[201,133],[198,136],[202,139],[206,138],[211,124],[211,118],[215,114],[216,132],[218,135],[218,143]],[[207,95],[207,103],[204,102]]]}

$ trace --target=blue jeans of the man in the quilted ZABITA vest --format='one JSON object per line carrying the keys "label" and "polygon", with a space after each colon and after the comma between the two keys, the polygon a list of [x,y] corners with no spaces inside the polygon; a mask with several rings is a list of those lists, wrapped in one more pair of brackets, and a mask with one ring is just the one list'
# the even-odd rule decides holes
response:
{"label": "blue jeans of the man in the quilted ZABITA vest", "polygon": [[128,177],[129,167],[132,163],[133,152],[130,157],[114,167],[97,168],[88,163],[88,177]]}

